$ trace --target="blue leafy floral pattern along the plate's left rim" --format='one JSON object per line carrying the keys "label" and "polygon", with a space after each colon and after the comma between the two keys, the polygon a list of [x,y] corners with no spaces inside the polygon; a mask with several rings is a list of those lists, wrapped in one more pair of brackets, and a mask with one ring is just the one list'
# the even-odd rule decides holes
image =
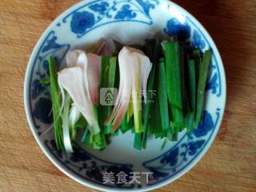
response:
{"label": "blue leafy floral pattern along the plate's left rim", "polygon": [[[36,118],[39,122],[50,124],[52,122],[51,101],[50,101],[50,83],[42,84],[42,78],[49,77],[49,55],[63,54],[62,57],[55,56],[57,65],[62,62],[66,51],[70,49],[68,44],[59,44],[57,36],[54,31],[50,31],[45,41],[38,52],[36,61],[33,66],[33,79],[30,83],[30,111],[33,114],[33,118]],[[36,67],[36,68],[35,68]],[[32,100],[34,104],[32,105]],[[32,107],[33,106],[33,107]],[[44,130],[40,130],[40,123],[34,121],[34,126],[38,129],[38,134],[42,134]]]}

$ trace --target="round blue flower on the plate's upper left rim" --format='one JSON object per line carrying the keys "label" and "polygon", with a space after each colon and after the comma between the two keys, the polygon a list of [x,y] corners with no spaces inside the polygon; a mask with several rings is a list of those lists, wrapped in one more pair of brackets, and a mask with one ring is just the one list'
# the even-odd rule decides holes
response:
{"label": "round blue flower on the plate's upper left rim", "polygon": [[75,12],[70,22],[71,31],[74,34],[84,34],[86,30],[94,26],[94,14],[88,11]]}

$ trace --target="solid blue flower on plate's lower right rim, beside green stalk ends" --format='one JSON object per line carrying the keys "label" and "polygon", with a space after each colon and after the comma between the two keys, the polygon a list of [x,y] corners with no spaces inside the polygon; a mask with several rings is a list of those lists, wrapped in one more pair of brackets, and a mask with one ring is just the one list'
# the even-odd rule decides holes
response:
{"label": "solid blue flower on plate's lower right rim, beside green stalk ends", "polygon": [[206,110],[202,114],[202,122],[199,123],[198,129],[193,130],[193,134],[200,138],[205,136],[210,130],[214,129],[214,121],[212,116]]}

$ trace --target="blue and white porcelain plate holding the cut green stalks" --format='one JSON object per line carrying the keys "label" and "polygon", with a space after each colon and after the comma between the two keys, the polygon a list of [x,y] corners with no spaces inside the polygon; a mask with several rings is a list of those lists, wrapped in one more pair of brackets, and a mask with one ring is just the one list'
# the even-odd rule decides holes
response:
{"label": "blue and white porcelain plate holding the cut green stalks", "polygon": [[[115,38],[125,44],[142,43],[157,32],[182,35],[202,51],[213,50],[206,87],[203,122],[190,137],[178,135],[161,150],[162,140],[150,139],[146,150],[134,150],[130,133],[114,137],[103,151],[77,145],[74,154],[54,148],[46,59],[54,55],[58,65],[73,48],[85,49],[100,38]],[[63,173],[85,186],[104,191],[146,191],[173,182],[189,171],[209,149],[218,132],[226,102],[226,78],[222,60],[210,35],[186,10],[166,0],[88,0],[61,14],[42,34],[26,69],[24,88],[26,116],[42,151]],[[106,182],[114,173],[112,182]],[[133,173],[131,173],[133,172]],[[139,181],[118,182],[119,173],[139,172]],[[146,174],[150,174],[146,181]],[[127,177],[127,180],[129,179]]]}

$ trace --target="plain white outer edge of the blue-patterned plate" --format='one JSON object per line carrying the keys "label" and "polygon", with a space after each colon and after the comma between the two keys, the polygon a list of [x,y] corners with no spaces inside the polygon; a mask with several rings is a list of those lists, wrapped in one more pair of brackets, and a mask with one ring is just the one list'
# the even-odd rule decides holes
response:
{"label": "plain white outer edge of the blue-patterned plate", "polygon": [[[88,2],[93,2],[93,1],[94,0],[88,0]],[[109,1],[109,0],[106,0],[106,1]],[[213,39],[210,37],[210,34],[207,32],[205,27],[202,26],[201,22],[199,22],[198,19],[195,18],[192,14],[190,14],[187,10],[182,8],[182,6],[178,6],[178,4],[176,4],[175,2],[168,1],[168,0],[158,0],[158,1],[159,2],[166,2],[169,5],[175,6],[175,7],[178,8],[179,11],[186,14],[187,17],[189,17],[191,19],[191,21],[194,22],[195,26],[199,26],[200,30],[202,31],[202,34],[205,35],[206,39],[210,43],[210,46],[211,46],[212,50],[214,51],[214,54],[217,58],[218,66],[220,66],[221,77],[222,77],[222,91],[223,91],[224,106],[223,106],[223,110],[221,111],[220,116],[219,116],[220,120],[218,121],[218,124],[214,129],[214,133],[212,134],[211,138],[208,141],[208,145],[206,145],[202,149],[201,153],[198,154],[197,158],[195,158],[194,161],[190,162],[189,165],[187,165],[183,170],[179,171],[178,174],[174,175],[174,177],[166,178],[162,182],[158,182],[158,183],[156,183],[152,186],[146,186],[145,188],[142,188],[142,189],[118,189],[118,188],[114,189],[113,187],[110,187],[110,186],[102,186],[102,185],[99,185],[95,182],[91,182],[89,180],[86,181],[82,178],[79,178],[71,170],[68,170],[65,166],[62,166],[62,162],[59,162],[58,159],[56,159],[54,157],[54,155],[50,153],[49,149],[47,149],[47,147],[44,145],[44,143],[41,141],[38,134],[36,133],[34,123],[33,123],[33,120],[32,120],[31,114],[30,114],[30,107],[29,107],[29,87],[30,87],[29,82],[30,82],[30,74],[32,72],[32,66],[33,66],[35,56],[38,53],[39,46],[42,44],[43,40],[46,38],[46,34],[50,31],[52,26],[54,26],[54,24],[58,23],[58,21],[61,18],[63,18],[68,12],[70,12],[72,10],[75,10],[76,8],[78,8],[79,6],[82,6],[85,3],[84,1],[78,2],[78,3],[74,4],[73,6],[70,6],[62,14],[60,14],[57,18],[55,18],[54,21],[51,22],[50,25],[46,28],[46,30],[42,33],[38,42],[34,46],[32,54],[30,55],[29,62],[26,66],[26,75],[25,75],[24,86],[23,86],[24,87],[23,88],[23,96],[24,96],[24,106],[25,106],[25,110],[26,110],[27,122],[30,126],[30,130],[31,130],[34,138],[36,139],[36,141],[38,143],[39,148],[42,150],[42,152],[44,154],[46,154],[46,157],[50,159],[50,162],[52,162],[54,164],[54,166],[56,166],[58,168],[58,170],[61,170],[62,173],[66,174],[66,176],[68,176],[69,178],[74,179],[74,181],[82,184],[82,186],[88,186],[88,187],[90,187],[92,189],[95,189],[95,190],[104,190],[104,191],[149,191],[149,190],[157,189],[157,188],[162,187],[162,186],[166,186],[167,184],[170,184],[171,182],[174,182],[178,178],[182,177],[183,174],[186,174],[189,170],[191,170],[202,159],[202,157],[206,154],[206,152],[209,150],[210,146],[212,145],[214,139],[216,138],[218,130],[221,126],[224,110],[225,110],[225,107],[226,107],[226,74],[225,74],[225,69],[224,69],[224,66],[223,66],[222,58],[219,54],[217,46],[215,45]]]}

